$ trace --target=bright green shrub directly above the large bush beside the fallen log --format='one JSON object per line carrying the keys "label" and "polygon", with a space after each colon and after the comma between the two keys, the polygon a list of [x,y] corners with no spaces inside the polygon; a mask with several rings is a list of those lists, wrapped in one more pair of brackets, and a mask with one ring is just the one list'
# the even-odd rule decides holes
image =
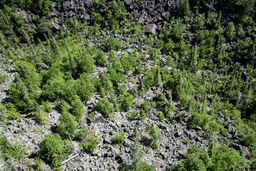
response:
{"label": "bright green shrub directly above the large bush beside the fallen log", "polygon": [[67,111],[64,111],[59,117],[59,121],[60,124],[58,127],[58,132],[60,136],[67,138],[68,136],[72,137],[75,135],[78,128],[78,123],[76,122],[75,116],[72,116]]}

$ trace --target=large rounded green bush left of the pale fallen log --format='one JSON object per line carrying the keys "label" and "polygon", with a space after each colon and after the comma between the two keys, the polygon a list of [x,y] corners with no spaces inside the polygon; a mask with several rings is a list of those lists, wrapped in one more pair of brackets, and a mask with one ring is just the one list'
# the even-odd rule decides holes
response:
{"label": "large rounded green bush left of the pale fallen log", "polygon": [[39,156],[43,161],[57,169],[59,162],[67,158],[70,149],[62,145],[59,135],[46,135],[39,143]]}

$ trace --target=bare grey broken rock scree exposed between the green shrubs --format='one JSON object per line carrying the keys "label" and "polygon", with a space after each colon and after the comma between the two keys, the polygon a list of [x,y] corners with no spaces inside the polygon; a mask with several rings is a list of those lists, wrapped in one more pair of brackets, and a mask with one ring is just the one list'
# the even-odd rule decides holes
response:
{"label": "bare grey broken rock scree exposed between the green shrubs", "polygon": [[[47,30],[52,34],[56,34],[72,17],[81,22],[87,22],[90,27],[94,22],[92,12],[95,11],[101,15],[106,14],[106,3],[96,7],[96,4],[92,0],[64,1],[60,10],[57,8],[51,9],[51,12],[47,15],[47,19],[50,19],[50,27],[47,28]],[[178,1],[157,0],[139,2],[125,0],[124,3],[127,10],[127,16],[136,13],[132,21],[139,22],[141,25],[145,26],[145,33],[153,35],[154,42],[159,39],[160,31],[163,30],[164,27],[168,26],[168,15],[180,16],[180,12],[178,11]],[[221,22],[226,25],[227,22],[235,20],[235,14],[225,13],[225,9],[220,6],[220,3],[220,1],[214,1],[212,4],[213,7],[205,5],[202,6],[200,10],[207,11],[209,8],[213,8],[213,11],[216,11],[216,14],[218,11],[224,11]],[[32,22],[32,13],[30,13],[30,11],[26,11],[26,13],[24,13],[24,11],[21,10],[18,14],[22,15],[27,23],[30,24]],[[188,23],[192,27],[192,23],[196,18],[196,15],[199,14],[191,13],[188,19]],[[251,15],[254,17],[254,14]],[[120,23],[120,26],[122,27],[123,24],[124,23]],[[103,27],[107,27],[108,25],[109,23],[107,21],[102,23]],[[256,32],[256,27],[253,28],[248,26],[246,29],[246,34],[248,34],[249,37],[253,37],[253,34]],[[115,33],[113,31],[105,32],[103,30],[101,33],[102,34],[98,38],[92,38],[90,35],[82,36],[87,39],[89,44],[92,46],[96,44],[97,48],[104,50],[107,55],[109,55],[109,52],[105,51],[104,44],[101,43],[101,41],[105,39],[105,36],[107,36],[107,38],[111,36],[115,37],[116,39],[121,40],[123,44],[128,42],[129,37],[132,36],[132,33],[124,36],[120,33]],[[34,35],[38,36],[38,38],[42,36],[37,33]],[[190,42],[193,42],[194,36],[195,32],[192,31],[190,32],[190,35],[188,35],[187,39],[190,40]],[[238,43],[238,40],[239,38],[230,39],[226,44],[227,49],[232,51],[232,49],[237,46],[236,44]],[[134,48],[144,47],[146,45],[147,43],[143,37],[132,43],[129,47],[122,47],[122,51],[125,51],[128,54],[133,54],[135,51]],[[151,59],[152,53],[150,50],[143,49],[142,53],[145,54],[145,59]],[[166,56],[167,55],[165,54],[161,54],[159,60],[165,61]],[[10,88],[10,84],[14,81],[17,71],[14,69],[13,64],[11,64],[10,61],[6,63],[3,57],[4,56],[0,59],[0,74],[8,75],[9,79],[0,84],[0,101],[10,101],[8,89]],[[235,60],[239,61],[239,59]],[[256,58],[251,59],[250,63],[255,64],[255,60]],[[231,61],[230,63],[233,62]],[[149,60],[147,63],[143,63],[141,67],[145,70],[146,68],[152,68],[154,66],[156,66],[156,63]],[[167,65],[163,67],[168,68],[169,71],[173,70],[172,67]],[[102,72],[107,72],[107,67],[97,66],[95,72],[93,72],[91,76],[97,76],[99,78]],[[135,79],[135,82],[119,83],[117,87],[125,87],[129,92],[133,92],[135,94],[137,89],[140,88],[143,75],[136,76],[133,72],[129,72],[125,77],[127,80]],[[204,78],[208,78],[208,75],[205,74]],[[156,101],[155,99],[158,92],[164,92],[167,100],[173,100],[174,105],[177,108],[173,111],[173,116],[178,115],[179,117],[171,117],[170,119],[164,118],[161,120],[159,119],[159,116],[156,115],[156,112],[158,111],[156,107],[156,109],[151,109],[148,112],[148,117],[144,121],[140,119],[129,119],[131,111],[140,112],[141,103],[143,103],[143,101]],[[109,95],[106,97],[109,101],[111,100]],[[86,101],[86,116],[94,111],[93,106],[100,99],[100,93],[96,92],[94,96]],[[211,97],[209,99],[211,99]],[[73,152],[70,156],[74,154],[79,155],[65,163],[62,166],[63,170],[117,170],[121,162],[131,164],[131,156],[129,154],[131,154],[131,145],[135,140],[133,136],[135,127],[139,130],[139,142],[143,145],[142,160],[147,162],[149,165],[152,165],[155,170],[169,170],[170,165],[177,165],[180,163],[185,158],[188,148],[192,145],[201,146],[202,149],[207,150],[208,144],[212,141],[216,141],[216,137],[218,138],[217,144],[226,144],[226,142],[229,141],[229,146],[241,151],[241,156],[245,157],[247,163],[250,164],[250,147],[244,146],[241,143],[241,137],[238,136],[238,131],[234,127],[234,122],[222,113],[219,113],[219,117],[221,124],[225,125],[225,128],[228,130],[228,135],[223,136],[221,134],[217,134],[217,136],[209,136],[203,128],[199,126],[191,127],[192,115],[190,115],[186,108],[182,107],[182,104],[178,99],[172,98],[172,93],[165,87],[152,86],[152,88],[148,89],[143,95],[135,97],[134,101],[135,103],[129,111],[115,112],[114,116],[108,117],[107,119],[105,119],[100,113],[96,113],[94,118],[88,121],[88,124],[86,121],[80,123],[80,128],[90,128],[90,134],[97,137],[99,145],[97,146],[94,154],[88,154],[78,146],[78,142],[74,141],[74,146],[72,146]],[[34,156],[38,154],[38,144],[42,141],[44,136],[56,133],[56,128],[59,125],[59,116],[61,115],[61,113],[55,108],[56,103],[56,101],[52,103],[52,108],[54,110],[48,113],[49,120],[47,124],[42,125],[36,122],[34,115],[32,115],[33,113],[22,113],[21,117],[19,117],[20,119],[10,120],[7,124],[0,125],[1,134],[5,135],[9,140],[21,143],[22,146],[27,149],[27,156],[31,159],[34,158]],[[160,148],[157,148],[156,150],[149,148],[149,137],[146,132],[152,123],[156,125],[163,135],[159,140]],[[119,146],[113,144],[113,137],[115,137],[117,133],[121,132],[124,132],[127,136],[127,138],[125,138],[124,145]],[[15,169],[18,170],[19,167],[23,167],[25,170],[27,165],[29,165],[32,170],[35,169],[34,160],[23,161],[23,163]],[[50,166],[44,165],[44,169],[50,170]]]}

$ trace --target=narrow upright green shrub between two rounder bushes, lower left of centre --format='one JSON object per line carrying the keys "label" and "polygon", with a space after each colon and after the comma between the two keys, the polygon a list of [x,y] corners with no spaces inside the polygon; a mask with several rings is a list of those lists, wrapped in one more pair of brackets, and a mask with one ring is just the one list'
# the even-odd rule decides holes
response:
{"label": "narrow upright green shrub between two rounder bushes, lower left of centre", "polygon": [[80,121],[81,117],[84,115],[86,110],[84,109],[83,102],[79,99],[79,96],[74,96],[75,100],[72,101],[72,114],[76,117],[76,121]]}

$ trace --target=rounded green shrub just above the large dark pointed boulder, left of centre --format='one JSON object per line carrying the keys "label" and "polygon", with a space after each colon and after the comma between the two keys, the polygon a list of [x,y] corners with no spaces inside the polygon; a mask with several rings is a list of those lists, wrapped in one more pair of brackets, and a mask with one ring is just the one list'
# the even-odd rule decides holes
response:
{"label": "rounded green shrub just above the large dark pointed boulder, left of centre", "polygon": [[99,102],[94,105],[94,109],[100,112],[104,117],[108,117],[114,112],[111,103],[105,98],[100,99]]}

